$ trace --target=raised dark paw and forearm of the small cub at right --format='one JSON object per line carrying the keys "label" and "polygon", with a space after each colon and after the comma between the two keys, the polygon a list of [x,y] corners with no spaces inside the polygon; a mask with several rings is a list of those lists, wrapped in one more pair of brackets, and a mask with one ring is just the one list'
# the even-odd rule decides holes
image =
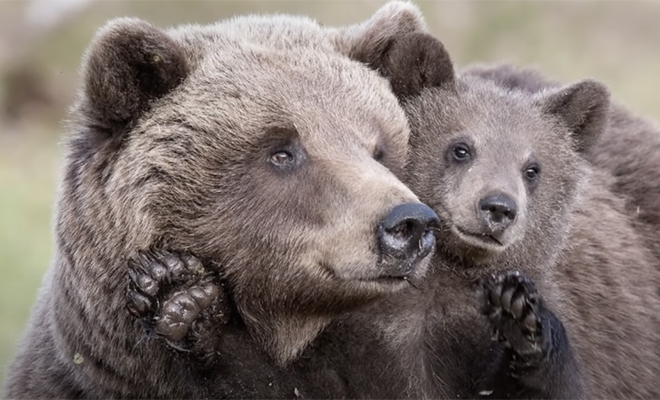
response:
{"label": "raised dark paw and forearm of the small cub at right", "polygon": [[492,275],[482,285],[483,312],[493,339],[505,347],[493,376],[485,379],[483,397],[585,398],[584,376],[564,325],[532,281],[510,271]]}

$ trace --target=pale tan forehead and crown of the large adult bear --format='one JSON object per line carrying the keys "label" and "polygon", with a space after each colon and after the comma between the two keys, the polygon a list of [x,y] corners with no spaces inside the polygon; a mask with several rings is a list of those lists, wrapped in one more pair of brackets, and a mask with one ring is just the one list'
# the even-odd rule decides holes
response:
{"label": "pale tan forehead and crown of the large adult bear", "polygon": [[153,110],[155,120],[185,120],[189,131],[237,143],[279,125],[328,149],[389,142],[405,150],[407,120],[388,82],[339,54],[311,20],[240,17],[169,33],[191,72]]}

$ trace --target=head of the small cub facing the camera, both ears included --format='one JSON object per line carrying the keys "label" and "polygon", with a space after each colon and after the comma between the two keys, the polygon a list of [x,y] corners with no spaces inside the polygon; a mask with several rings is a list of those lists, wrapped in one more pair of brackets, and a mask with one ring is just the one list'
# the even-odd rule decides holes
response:
{"label": "head of the small cub facing the camera, both ears included", "polygon": [[443,45],[423,32],[382,48],[364,52],[363,61],[390,79],[408,116],[405,181],[442,220],[443,262],[548,265],[589,175],[585,153],[607,120],[604,85],[585,80],[533,92],[459,75]]}

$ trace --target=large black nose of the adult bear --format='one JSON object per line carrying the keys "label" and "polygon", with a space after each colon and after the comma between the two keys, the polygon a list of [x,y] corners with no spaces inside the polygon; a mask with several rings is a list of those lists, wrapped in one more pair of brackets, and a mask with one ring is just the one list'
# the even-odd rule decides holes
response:
{"label": "large black nose of the adult bear", "polygon": [[378,226],[383,256],[397,261],[388,268],[388,276],[406,276],[416,261],[429,255],[435,246],[432,229],[439,223],[436,213],[424,204],[407,203],[392,209]]}

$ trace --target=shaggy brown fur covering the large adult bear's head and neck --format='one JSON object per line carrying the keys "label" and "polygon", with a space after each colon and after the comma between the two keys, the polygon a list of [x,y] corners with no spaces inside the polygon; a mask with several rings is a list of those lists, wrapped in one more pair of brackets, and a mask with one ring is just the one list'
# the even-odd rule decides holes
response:
{"label": "shaggy brown fur covering the large adult bear's head and neck", "polygon": [[[298,395],[305,364],[275,379],[281,365],[333,320],[424,275],[418,257],[390,278],[404,266],[376,234],[393,207],[419,204],[392,172],[405,115],[383,78],[336,51],[334,32],[285,16],[169,31],[118,19],[99,31],[67,138],[54,264],[5,396]],[[126,260],[155,243],[222,266],[245,325],[223,337],[243,358],[220,382],[144,340],[125,309]],[[317,383],[310,367],[311,393],[341,396],[326,359],[314,368],[330,378]]]}

